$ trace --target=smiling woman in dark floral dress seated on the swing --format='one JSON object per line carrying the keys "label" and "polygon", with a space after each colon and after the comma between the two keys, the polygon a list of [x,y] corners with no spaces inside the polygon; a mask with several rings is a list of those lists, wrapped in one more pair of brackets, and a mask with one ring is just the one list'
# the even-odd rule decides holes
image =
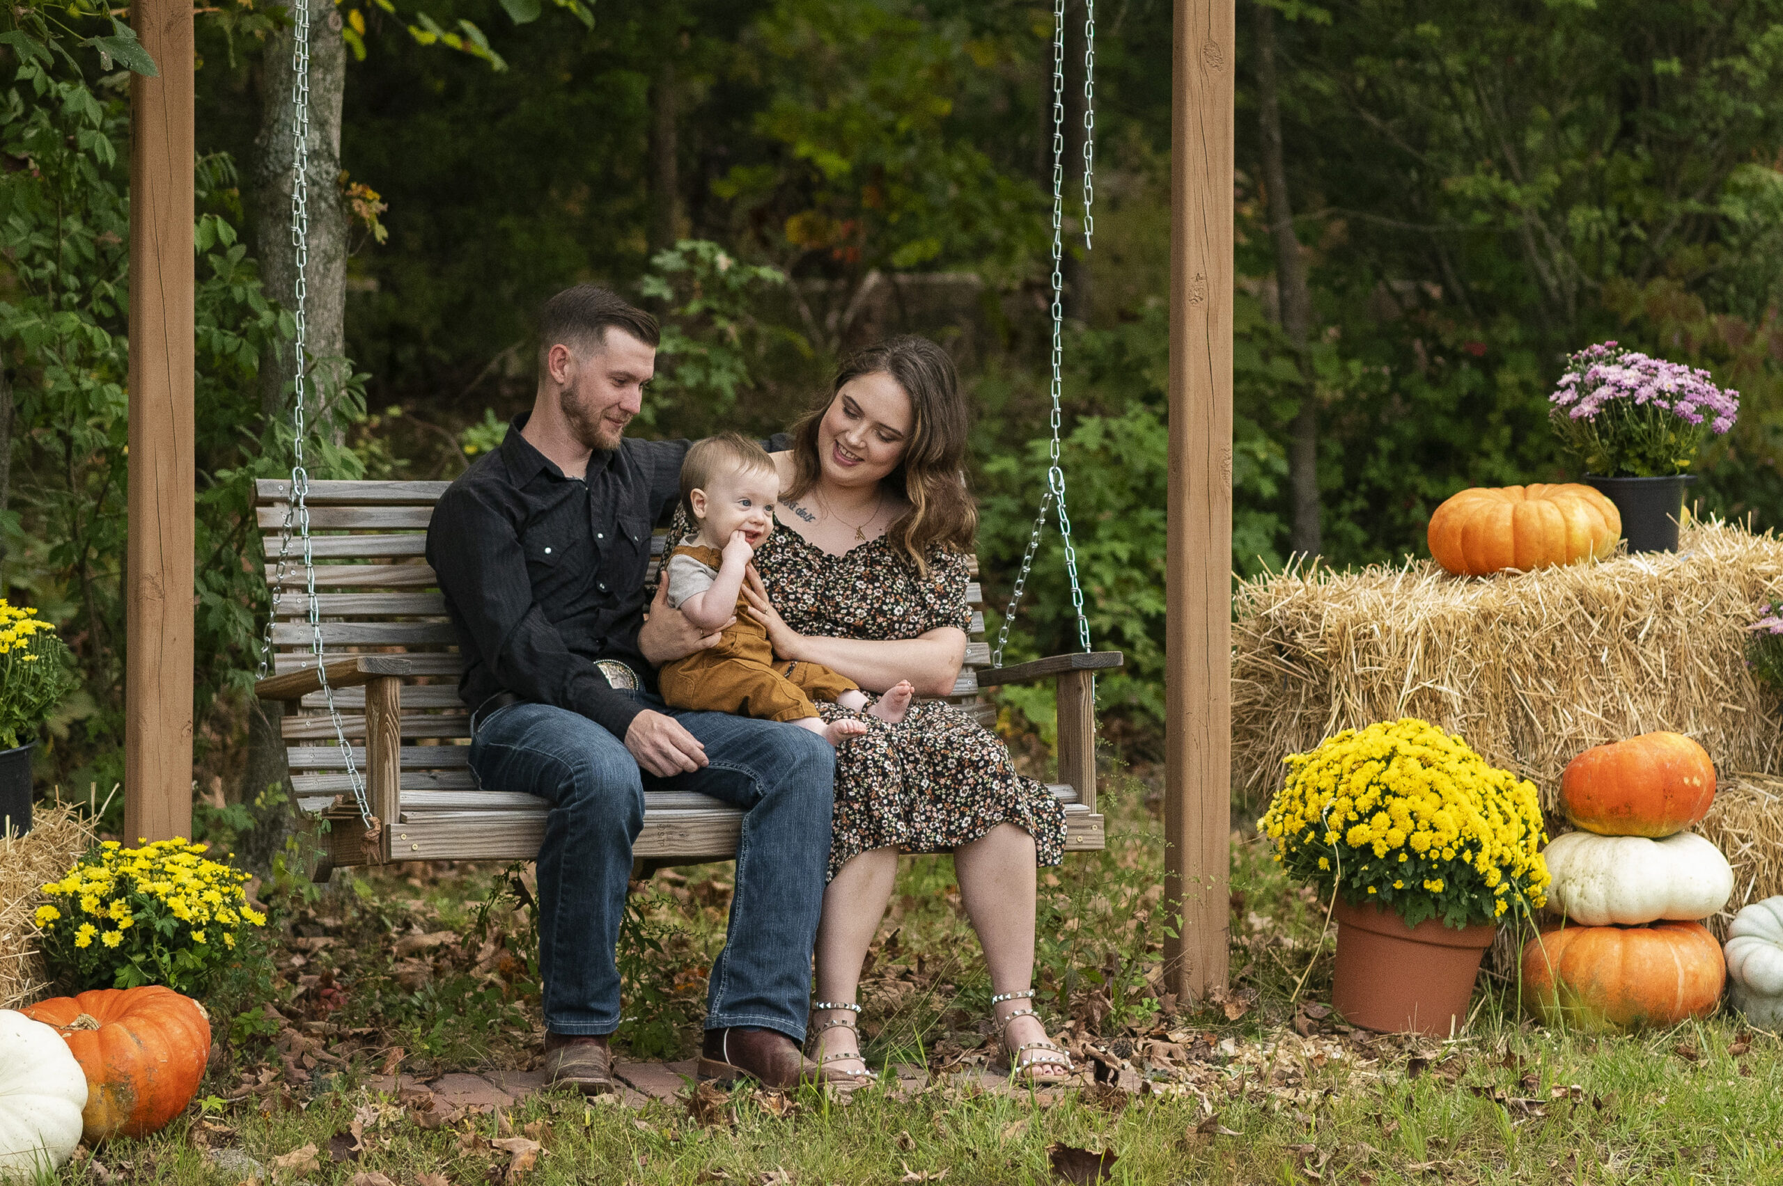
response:
{"label": "smiling woman in dark floral dress seated on the swing", "polygon": [[[776,454],[779,531],[756,552],[754,614],[786,661],[820,662],[872,693],[909,680],[952,693],[972,611],[966,559],[977,508],[963,483],[966,404],[954,365],[925,338],[861,351]],[[820,705],[820,712],[845,712]],[[1007,748],[963,712],[913,705],[904,721],[836,753],[829,889],[817,935],[818,1058],[868,1077],[854,1003],[899,853],[952,851],[991,974],[1015,1072],[1052,1083],[1070,1058],[1032,1010],[1036,864],[1064,853],[1064,812],[1015,771]]]}

